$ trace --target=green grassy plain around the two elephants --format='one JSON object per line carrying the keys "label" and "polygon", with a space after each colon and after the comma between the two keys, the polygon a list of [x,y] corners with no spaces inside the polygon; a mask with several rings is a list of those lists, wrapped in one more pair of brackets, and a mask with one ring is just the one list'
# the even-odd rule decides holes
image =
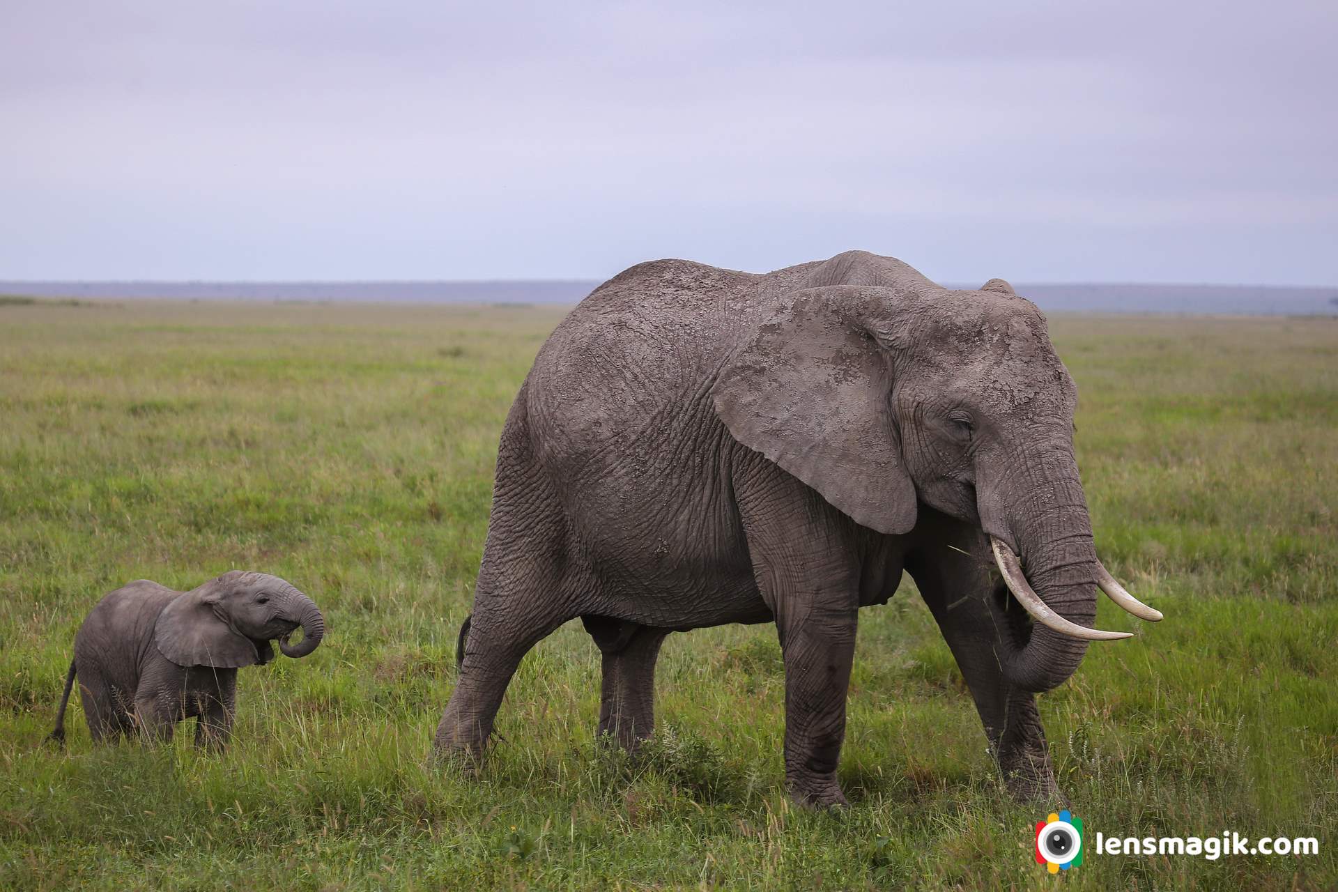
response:
{"label": "green grassy plain around the two elephants", "polygon": [[[660,732],[591,729],[579,623],[524,662],[476,778],[428,760],[542,308],[0,305],[0,888],[466,889],[1338,885],[1338,321],[1062,317],[1105,563],[1042,697],[1061,784],[1107,836],[1319,839],[1318,856],[1088,853],[1048,876],[907,579],[860,614],[842,777],[781,788],[775,631],[673,635]],[[240,674],[235,745],[43,745],[106,591],[280,574],[329,621]]]}

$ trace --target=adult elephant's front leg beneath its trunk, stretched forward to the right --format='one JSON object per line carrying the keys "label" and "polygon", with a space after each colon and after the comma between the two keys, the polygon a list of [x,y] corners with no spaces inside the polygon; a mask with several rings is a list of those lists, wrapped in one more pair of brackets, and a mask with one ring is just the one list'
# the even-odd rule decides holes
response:
{"label": "adult elephant's front leg beneath its trunk, stretched forward to the right", "polygon": [[[957,659],[985,725],[990,754],[1020,801],[1062,802],[1036,695],[1008,682],[999,665],[1012,619],[989,571],[989,543],[978,530],[942,515],[926,520],[926,544],[906,562]],[[919,532],[919,531],[918,531]]]}

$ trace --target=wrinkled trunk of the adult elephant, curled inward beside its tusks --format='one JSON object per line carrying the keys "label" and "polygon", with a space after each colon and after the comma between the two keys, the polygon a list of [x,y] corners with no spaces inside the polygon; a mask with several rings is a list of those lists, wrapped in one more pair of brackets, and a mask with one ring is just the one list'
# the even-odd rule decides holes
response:
{"label": "wrinkled trunk of the adult elephant, curled inward beside its tusks", "polygon": [[[1009,512],[1013,515],[1009,527],[1021,552],[1025,574],[1021,586],[1014,584],[1016,579],[1008,579],[1005,560],[1010,560],[1012,555],[999,560],[1009,587],[1018,592],[1018,603],[1040,621],[1032,625],[1025,643],[1005,657],[1004,674],[1018,687],[1036,693],[1064,683],[1086,654],[1088,641],[1074,637],[1077,630],[1066,627],[1066,623],[1089,630],[1096,621],[1100,563],[1092,539],[1092,520],[1078,483],[1077,463],[1072,455],[1065,459],[1062,468],[1050,468],[1061,471],[1057,475],[1017,475],[1014,487],[1028,487],[1025,493],[1020,493],[1021,499],[1009,499],[1017,506]],[[1044,604],[1024,600],[1028,584]],[[1045,608],[1053,615],[1046,615]],[[1025,631],[1021,634],[1025,635]],[[1125,635],[1098,633],[1092,637]]]}

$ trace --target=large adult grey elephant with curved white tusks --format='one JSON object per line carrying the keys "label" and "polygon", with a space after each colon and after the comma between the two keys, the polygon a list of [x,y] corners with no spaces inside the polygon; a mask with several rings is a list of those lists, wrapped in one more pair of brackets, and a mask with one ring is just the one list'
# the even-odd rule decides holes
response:
{"label": "large adult grey elephant with curved white tusks", "polygon": [[1160,619],[1097,560],[1074,404],[1045,318],[1002,280],[954,292],[864,251],[763,275],[633,266],[557,328],[511,407],[436,749],[479,752],[520,658],[575,617],[603,653],[599,730],[625,746],[650,733],[666,634],[775,621],[791,794],[844,804],[858,608],[906,570],[1012,792],[1057,794],[1034,693],[1128,637],[1089,627],[1097,586]]}

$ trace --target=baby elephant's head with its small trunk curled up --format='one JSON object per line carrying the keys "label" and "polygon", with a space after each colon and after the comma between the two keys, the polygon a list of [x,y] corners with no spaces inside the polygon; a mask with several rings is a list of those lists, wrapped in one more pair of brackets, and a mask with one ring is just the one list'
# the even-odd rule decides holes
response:
{"label": "baby elephant's head with its small trunk curled up", "polygon": [[[288,637],[302,629],[302,641]],[[154,627],[163,657],[179,666],[234,669],[266,663],[277,638],[286,657],[305,657],[321,643],[325,618],[292,583],[264,572],[233,570],[173,599]]]}

